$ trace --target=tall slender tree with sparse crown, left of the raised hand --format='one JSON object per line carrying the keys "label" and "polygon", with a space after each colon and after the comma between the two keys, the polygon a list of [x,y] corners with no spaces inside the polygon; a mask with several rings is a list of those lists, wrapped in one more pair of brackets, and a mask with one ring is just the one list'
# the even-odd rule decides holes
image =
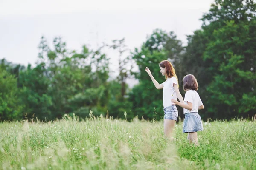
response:
{"label": "tall slender tree with sparse crown, left of the raised hand", "polygon": [[131,110],[131,102],[128,100],[128,79],[132,77],[131,70],[133,59],[125,45],[125,39],[113,40],[111,45],[107,45],[109,48],[117,52],[118,55],[118,75],[116,79],[109,82],[110,101],[108,103],[109,115],[113,117],[125,119],[124,112],[127,112],[127,119],[132,119],[134,114]]}

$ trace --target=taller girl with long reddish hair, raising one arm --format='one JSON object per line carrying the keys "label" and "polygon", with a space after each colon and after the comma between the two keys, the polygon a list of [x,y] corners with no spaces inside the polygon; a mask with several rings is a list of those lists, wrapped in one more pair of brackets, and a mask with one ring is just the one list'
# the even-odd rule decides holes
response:
{"label": "taller girl with long reddish hair, raising one arm", "polygon": [[178,79],[172,63],[168,60],[163,60],[160,62],[159,67],[160,73],[162,73],[162,75],[166,78],[166,81],[162,84],[159,84],[154,79],[148,67],[145,68],[145,71],[148,73],[155,87],[157,89],[163,89],[163,131],[167,138],[173,140],[174,138],[172,137],[172,130],[174,129],[175,122],[177,121],[178,110],[176,105],[171,102],[171,99],[177,100],[178,98],[179,101],[183,103],[183,98],[178,88]]}

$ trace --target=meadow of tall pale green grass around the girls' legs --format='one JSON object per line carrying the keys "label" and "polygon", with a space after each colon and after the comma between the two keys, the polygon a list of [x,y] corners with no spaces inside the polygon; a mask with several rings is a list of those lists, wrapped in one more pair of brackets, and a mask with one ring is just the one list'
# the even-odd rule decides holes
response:
{"label": "meadow of tall pale green grass around the girls' legs", "polygon": [[188,144],[182,123],[175,137],[164,139],[163,120],[3,122],[0,169],[256,169],[256,121],[204,122],[200,147]]}

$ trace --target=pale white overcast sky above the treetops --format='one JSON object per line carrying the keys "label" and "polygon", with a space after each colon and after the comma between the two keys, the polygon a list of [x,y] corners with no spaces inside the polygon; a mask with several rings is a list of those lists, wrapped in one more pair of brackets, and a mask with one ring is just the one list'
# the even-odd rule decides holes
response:
{"label": "pale white overcast sky above the treetops", "polygon": [[[155,28],[186,35],[201,27],[199,20],[213,0],[0,0],[0,59],[27,65],[37,60],[44,35],[49,45],[63,37],[68,49],[95,49],[102,42],[125,38],[139,48]],[[108,53],[111,68],[116,54]]]}

